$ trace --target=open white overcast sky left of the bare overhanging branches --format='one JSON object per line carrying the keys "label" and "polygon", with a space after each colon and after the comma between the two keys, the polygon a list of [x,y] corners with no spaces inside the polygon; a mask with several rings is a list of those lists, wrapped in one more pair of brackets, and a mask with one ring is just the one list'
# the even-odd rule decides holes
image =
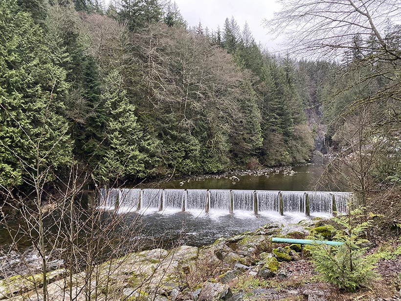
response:
{"label": "open white overcast sky left of the bare overhanging branches", "polygon": [[262,20],[271,18],[280,6],[275,0],[175,0],[182,17],[190,26],[201,21],[203,28],[223,29],[225,18],[234,17],[241,30],[245,21],[253,33],[256,43],[261,42],[269,51],[279,48],[280,41],[272,40],[263,27]]}

